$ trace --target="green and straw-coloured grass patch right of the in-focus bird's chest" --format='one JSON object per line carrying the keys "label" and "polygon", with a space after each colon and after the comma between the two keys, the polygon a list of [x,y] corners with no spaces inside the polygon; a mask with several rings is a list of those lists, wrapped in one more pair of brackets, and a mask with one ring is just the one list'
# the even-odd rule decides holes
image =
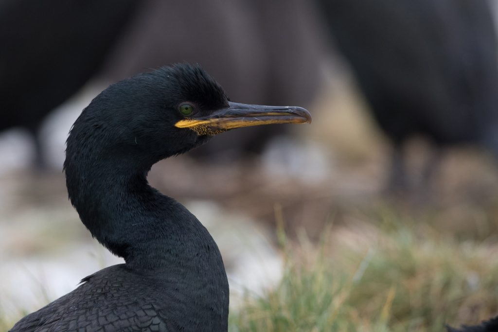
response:
{"label": "green and straw-coloured grass patch right of the in-focus bird's chest", "polygon": [[498,312],[496,246],[402,221],[337,226],[316,245],[291,245],[277,224],[283,278],[244,296],[232,332],[443,332]]}

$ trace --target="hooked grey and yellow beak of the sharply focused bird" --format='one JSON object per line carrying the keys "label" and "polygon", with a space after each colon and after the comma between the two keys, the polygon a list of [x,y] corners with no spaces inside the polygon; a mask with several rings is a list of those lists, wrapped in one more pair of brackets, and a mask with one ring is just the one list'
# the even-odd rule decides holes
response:
{"label": "hooked grey and yellow beak of the sharply focused bird", "polygon": [[311,123],[309,111],[294,106],[262,106],[229,102],[229,107],[208,116],[182,119],[178,128],[190,128],[199,135],[215,135],[235,128],[277,123]]}

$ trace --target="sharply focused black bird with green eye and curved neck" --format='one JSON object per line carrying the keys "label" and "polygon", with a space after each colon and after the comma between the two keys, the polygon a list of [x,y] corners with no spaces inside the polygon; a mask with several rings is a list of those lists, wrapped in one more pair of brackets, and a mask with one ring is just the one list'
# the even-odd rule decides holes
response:
{"label": "sharply focused black bird with green eye and curved neck", "polygon": [[148,185],[147,172],[229,129],[310,121],[301,108],[229,102],[188,64],[111,85],[74,123],[64,168],[81,221],[125,264],[84,278],[11,332],[227,331],[229,288],[215,241]]}

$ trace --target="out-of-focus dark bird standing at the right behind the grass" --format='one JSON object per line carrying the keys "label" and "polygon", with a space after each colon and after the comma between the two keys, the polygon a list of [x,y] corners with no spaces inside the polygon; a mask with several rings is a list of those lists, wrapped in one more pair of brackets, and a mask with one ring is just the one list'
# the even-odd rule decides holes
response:
{"label": "out-of-focus dark bird standing at the right behind the grass", "polygon": [[498,156],[497,35],[487,0],[319,3],[394,145],[391,186],[406,185],[401,157],[413,135],[438,149],[474,143]]}

